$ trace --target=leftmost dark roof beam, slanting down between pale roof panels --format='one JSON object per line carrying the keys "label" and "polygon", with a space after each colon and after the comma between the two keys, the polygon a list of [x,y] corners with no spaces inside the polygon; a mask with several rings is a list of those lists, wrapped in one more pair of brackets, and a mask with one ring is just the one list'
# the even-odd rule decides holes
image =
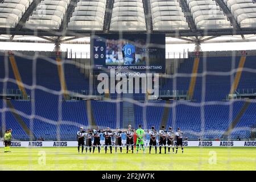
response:
{"label": "leftmost dark roof beam, slanting down between pale roof panels", "polygon": [[[39,5],[39,3],[42,0],[34,0],[32,1],[31,5],[28,7],[28,9],[26,10],[26,12],[23,14],[22,18],[20,18],[19,23],[16,25],[15,30],[19,31],[24,27],[24,24],[26,23],[26,21],[28,20],[28,18],[30,17],[30,15],[33,13],[33,11],[36,9],[36,7]],[[13,34],[11,36],[11,40],[13,40],[15,34]]]}

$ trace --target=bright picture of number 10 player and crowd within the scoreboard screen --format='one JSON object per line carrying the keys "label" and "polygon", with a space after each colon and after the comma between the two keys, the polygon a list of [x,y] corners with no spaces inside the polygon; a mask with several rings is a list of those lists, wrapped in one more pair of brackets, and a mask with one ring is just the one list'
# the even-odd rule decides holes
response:
{"label": "bright picture of number 10 player and crowd within the scoreboard screen", "polygon": [[143,51],[146,42],[135,40],[106,40],[106,65],[145,65],[146,53]]}

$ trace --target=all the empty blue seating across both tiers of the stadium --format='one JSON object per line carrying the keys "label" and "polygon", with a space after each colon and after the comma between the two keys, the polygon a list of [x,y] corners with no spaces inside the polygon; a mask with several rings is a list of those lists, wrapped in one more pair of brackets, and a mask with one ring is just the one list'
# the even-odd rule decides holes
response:
{"label": "all the empty blue seating across both tiers of the stadium", "polygon": [[[33,82],[37,87],[32,90],[26,87],[31,101],[11,100],[11,104],[28,128],[32,130],[35,138],[43,136],[46,139],[75,140],[78,127],[89,125],[86,103],[85,101],[63,101],[63,97],[59,97],[58,92],[61,85],[55,58],[35,60],[26,59],[26,57],[15,58],[25,87],[32,86]],[[251,72],[251,68],[256,68],[255,60],[256,56],[247,56],[238,90],[256,89],[256,80],[254,79],[256,73]],[[170,92],[176,89],[186,93],[191,81],[193,61],[193,57],[185,59],[177,69],[177,73],[184,73],[185,77],[178,75],[175,78],[172,75],[167,78],[166,84],[162,85],[161,89],[163,91],[170,90]],[[236,75],[232,71],[238,68],[239,61],[239,56],[233,59],[232,57],[201,58],[193,93],[195,101],[172,101],[167,126],[172,126],[175,129],[181,127],[189,139],[221,138],[245,103],[245,101],[239,100],[224,101]],[[6,67],[7,69],[5,69]],[[36,68],[36,71],[33,72],[32,68]],[[246,71],[246,68],[250,68],[249,71]],[[63,69],[68,90],[88,90],[88,78],[80,73],[79,68],[69,63],[64,64]],[[8,75],[6,75],[6,71]],[[202,73],[207,74],[202,75]],[[12,78],[14,82],[9,80],[7,84],[4,84],[5,76]],[[18,89],[10,61],[4,57],[0,58],[0,79],[1,90],[4,85],[8,89]],[[122,94],[120,96],[122,97]],[[110,94],[110,98],[117,98],[117,94]],[[134,100],[141,104],[148,103],[144,106],[134,103],[135,126],[142,124],[146,125],[144,127],[147,129],[150,129],[151,126],[159,129],[166,101],[144,102],[142,101],[144,94],[134,94]],[[211,104],[202,106],[203,101],[206,103],[211,101]],[[122,127],[122,102],[91,101],[91,104],[94,121],[98,126],[109,126],[112,129],[117,126]],[[12,127],[15,139],[28,139],[28,135],[16,121],[14,115],[10,111],[4,110],[6,107],[3,107],[3,100],[0,100],[1,126],[6,123],[6,127]],[[241,138],[250,137],[250,127],[255,125],[255,110],[256,105],[251,103],[230,137],[236,138],[237,135]]]}

